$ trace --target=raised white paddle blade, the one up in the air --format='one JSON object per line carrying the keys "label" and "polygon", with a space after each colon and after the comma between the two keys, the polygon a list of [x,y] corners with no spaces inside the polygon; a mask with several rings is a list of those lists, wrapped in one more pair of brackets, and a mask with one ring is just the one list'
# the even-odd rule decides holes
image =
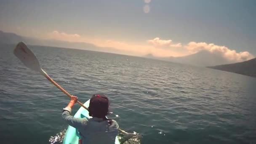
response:
{"label": "raised white paddle blade, the one up in the air", "polygon": [[40,72],[40,63],[35,54],[23,42],[19,42],[14,51],[14,55],[29,69]]}

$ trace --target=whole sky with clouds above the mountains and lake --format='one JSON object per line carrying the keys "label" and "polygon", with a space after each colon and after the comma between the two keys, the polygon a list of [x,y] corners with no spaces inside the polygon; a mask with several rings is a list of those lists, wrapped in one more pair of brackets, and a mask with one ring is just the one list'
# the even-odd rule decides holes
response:
{"label": "whole sky with clouds above the mountains and lake", "polygon": [[0,30],[128,55],[256,56],[255,0],[0,0]]}

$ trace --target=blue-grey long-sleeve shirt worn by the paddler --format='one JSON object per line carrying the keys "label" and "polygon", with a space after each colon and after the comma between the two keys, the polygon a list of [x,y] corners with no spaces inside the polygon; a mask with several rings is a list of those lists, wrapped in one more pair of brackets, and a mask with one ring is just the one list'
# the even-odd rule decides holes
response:
{"label": "blue-grey long-sleeve shirt worn by the paddler", "polygon": [[80,131],[83,144],[115,144],[119,128],[115,120],[109,124],[107,120],[97,117],[77,118],[70,115],[68,110],[63,111],[62,119]]}

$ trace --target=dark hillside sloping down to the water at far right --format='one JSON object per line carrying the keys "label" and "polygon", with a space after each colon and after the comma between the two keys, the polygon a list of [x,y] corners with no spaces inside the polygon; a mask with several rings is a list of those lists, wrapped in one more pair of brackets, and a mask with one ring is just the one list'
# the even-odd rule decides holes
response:
{"label": "dark hillside sloping down to the water at far right", "polygon": [[208,68],[256,77],[256,58],[235,64],[224,64],[218,66],[211,66]]}

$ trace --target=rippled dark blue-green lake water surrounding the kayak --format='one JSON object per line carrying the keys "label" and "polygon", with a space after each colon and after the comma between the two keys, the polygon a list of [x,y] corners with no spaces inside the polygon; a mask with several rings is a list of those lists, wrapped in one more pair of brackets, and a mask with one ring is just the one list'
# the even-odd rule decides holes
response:
{"label": "rippled dark blue-green lake water surrounding the kayak", "polygon": [[[0,45],[0,138],[48,144],[67,128],[61,112],[69,98],[27,69],[14,47]],[[120,128],[143,133],[143,144],[256,144],[256,78],[112,53],[29,48],[79,101],[107,95]]]}

